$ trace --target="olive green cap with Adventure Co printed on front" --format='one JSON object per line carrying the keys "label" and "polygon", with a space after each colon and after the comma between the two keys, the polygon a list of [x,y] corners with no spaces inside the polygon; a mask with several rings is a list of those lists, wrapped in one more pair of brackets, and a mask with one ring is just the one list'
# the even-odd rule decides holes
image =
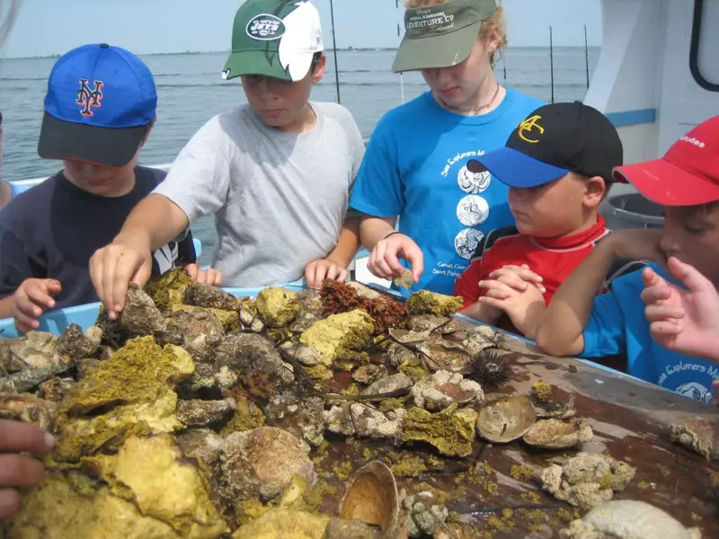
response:
{"label": "olive green cap with Adventure Co printed on front", "polygon": [[456,66],[472,52],[482,21],[496,8],[495,0],[454,0],[408,9],[392,71]]}

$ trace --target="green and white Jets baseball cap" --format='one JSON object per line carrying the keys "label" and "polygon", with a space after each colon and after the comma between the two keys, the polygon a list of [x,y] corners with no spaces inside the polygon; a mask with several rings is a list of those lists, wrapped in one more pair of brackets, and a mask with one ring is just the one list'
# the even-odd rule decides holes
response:
{"label": "green and white Jets baseball cap", "polygon": [[235,14],[232,52],[222,77],[306,77],[315,52],[324,50],[317,8],[307,0],[246,0]]}

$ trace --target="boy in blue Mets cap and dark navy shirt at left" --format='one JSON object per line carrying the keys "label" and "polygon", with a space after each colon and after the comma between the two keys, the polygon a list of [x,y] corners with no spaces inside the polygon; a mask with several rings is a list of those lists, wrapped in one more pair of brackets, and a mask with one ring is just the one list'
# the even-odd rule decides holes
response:
{"label": "boy in blue Mets cap and dark navy shirt at left", "polygon": [[[90,257],[164,178],[138,166],[156,102],[152,74],[125,49],[85,45],[53,66],[38,153],[64,168],[0,212],[0,317],[19,331],[47,309],[97,301]],[[187,234],[155,251],[152,270],[194,262]]]}

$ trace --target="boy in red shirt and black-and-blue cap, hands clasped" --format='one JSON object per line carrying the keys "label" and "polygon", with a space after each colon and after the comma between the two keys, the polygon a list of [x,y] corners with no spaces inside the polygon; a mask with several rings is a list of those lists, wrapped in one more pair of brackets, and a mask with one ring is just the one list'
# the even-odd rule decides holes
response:
{"label": "boy in red shirt and black-and-blue cap, hands clasped", "polygon": [[598,110],[554,103],[468,164],[510,187],[516,226],[487,234],[457,278],[463,314],[494,324],[506,315],[534,338],[556,289],[609,232],[598,208],[622,154],[617,129]]}

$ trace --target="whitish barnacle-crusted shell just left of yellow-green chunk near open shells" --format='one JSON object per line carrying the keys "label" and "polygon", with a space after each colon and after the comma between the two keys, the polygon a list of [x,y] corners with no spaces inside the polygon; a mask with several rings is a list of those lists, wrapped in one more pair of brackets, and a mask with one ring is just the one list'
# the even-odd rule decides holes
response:
{"label": "whitish barnacle-crusted shell just left of yellow-green chunk near open shells", "polygon": [[393,420],[389,420],[381,411],[360,402],[345,402],[324,411],[324,423],[327,430],[345,436],[363,436],[373,438],[395,438],[399,435],[404,410],[395,411]]}

